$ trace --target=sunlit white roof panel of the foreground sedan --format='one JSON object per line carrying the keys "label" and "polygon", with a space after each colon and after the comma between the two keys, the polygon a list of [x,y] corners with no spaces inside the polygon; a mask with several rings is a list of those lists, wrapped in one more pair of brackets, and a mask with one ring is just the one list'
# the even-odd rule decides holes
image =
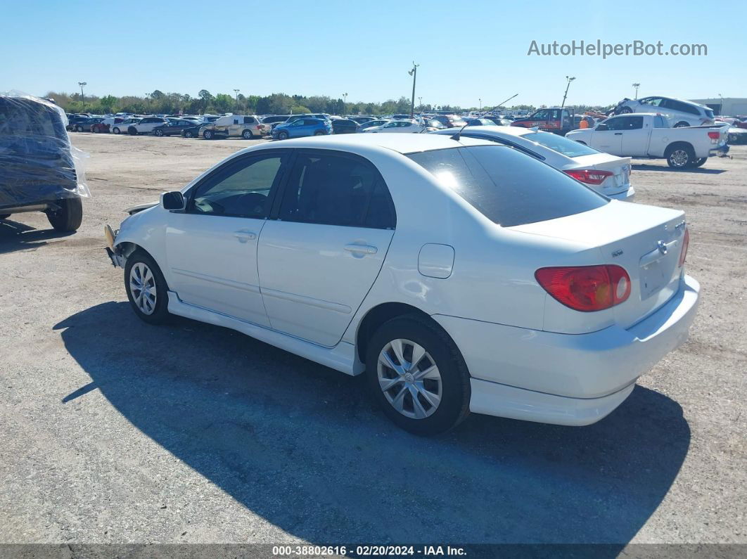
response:
{"label": "sunlit white roof panel of the foreground sedan", "polygon": [[[480,126],[480,128],[488,128]],[[452,134],[453,135],[453,134]],[[255,151],[255,149],[277,149],[282,148],[318,148],[337,149],[341,151],[356,152],[357,149],[384,148],[391,149],[400,154],[417,152],[428,152],[433,149],[448,149],[459,146],[495,146],[489,140],[477,140],[463,137],[459,142],[452,140],[442,134],[339,134],[330,136],[314,136],[283,140],[278,145],[274,142],[264,143],[255,148],[247,148],[244,151]]]}

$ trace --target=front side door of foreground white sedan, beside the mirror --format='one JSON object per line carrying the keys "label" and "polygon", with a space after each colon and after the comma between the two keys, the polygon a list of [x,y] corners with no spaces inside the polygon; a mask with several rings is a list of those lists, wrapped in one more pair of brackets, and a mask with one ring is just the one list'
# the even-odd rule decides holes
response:
{"label": "front side door of foreground white sedan, beside the mirror", "polygon": [[171,281],[185,303],[269,326],[257,273],[257,243],[291,151],[247,154],[190,189],[166,231]]}

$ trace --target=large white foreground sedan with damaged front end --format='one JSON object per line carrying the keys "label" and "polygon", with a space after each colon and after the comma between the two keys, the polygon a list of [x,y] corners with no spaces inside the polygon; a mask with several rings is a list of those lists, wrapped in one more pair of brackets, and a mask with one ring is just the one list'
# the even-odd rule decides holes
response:
{"label": "large white foreground sedan with damaged front end", "polygon": [[107,233],[140,319],[365,374],[418,434],[470,411],[596,422],[684,343],[698,304],[683,212],[611,201],[486,140],[261,144],[138,209]]}

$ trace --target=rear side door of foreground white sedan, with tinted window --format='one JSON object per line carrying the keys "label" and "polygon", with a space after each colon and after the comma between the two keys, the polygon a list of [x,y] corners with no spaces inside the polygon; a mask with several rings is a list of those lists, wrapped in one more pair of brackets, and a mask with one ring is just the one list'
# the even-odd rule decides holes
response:
{"label": "rear side door of foreground white sedan, with tinted window", "polygon": [[278,197],[258,248],[270,325],[335,346],[381,270],[394,234],[391,197],[368,160],[309,149],[297,150]]}

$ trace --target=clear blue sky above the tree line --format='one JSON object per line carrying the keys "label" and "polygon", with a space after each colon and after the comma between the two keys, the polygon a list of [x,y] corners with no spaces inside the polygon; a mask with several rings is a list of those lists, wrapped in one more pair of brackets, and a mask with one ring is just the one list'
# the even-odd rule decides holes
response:
{"label": "clear blue sky above the tree line", "polygon": [[[4,1],[0,91],[143,95],[201,89],[348,101],[609,104],[747,97],[747,2]],[[705,43],[707,57],[527,56],[532,40]],[[416,100],[417,102],[417,100]]]}

